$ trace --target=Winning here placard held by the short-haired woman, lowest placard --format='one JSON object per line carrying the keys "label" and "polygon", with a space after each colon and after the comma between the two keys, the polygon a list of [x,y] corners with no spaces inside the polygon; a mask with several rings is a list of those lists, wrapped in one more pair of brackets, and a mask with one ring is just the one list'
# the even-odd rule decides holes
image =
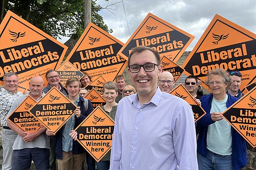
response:
{"label": "Winning here placard held by the short-haired woman, lowest placard", "polygon": [[112,147],[114,125],[114,120],[97,106],[75,129],[77,141],[97,162]]}

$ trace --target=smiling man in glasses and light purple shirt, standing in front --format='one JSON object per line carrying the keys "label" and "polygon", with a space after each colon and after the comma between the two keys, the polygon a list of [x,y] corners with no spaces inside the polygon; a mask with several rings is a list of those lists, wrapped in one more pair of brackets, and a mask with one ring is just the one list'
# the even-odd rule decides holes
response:
{"label": "smiling man in glasses and light purple shirt, standing in front", "polygon": [[132,49],[128,72],[136,94],[118,103],[112,140],[111,170],[198,169],[191,106],[162,92],[160,55],[150,47]]}

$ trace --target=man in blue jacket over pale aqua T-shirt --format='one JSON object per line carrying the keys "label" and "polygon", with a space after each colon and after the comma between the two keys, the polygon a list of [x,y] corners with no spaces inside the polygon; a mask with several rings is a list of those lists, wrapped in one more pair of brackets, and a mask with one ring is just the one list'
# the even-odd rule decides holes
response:
{"label": "man in blue jacket over pale aqua T-shirt", "polygon": [[202,96],[206,115],[197,122],[200,128],[197,148],[199,170],[239,170],[246,166],[246,142],[222,116],[222,112],[238,99],[226,93],[231,81],[224,69],[213,70],[207,76],[205,83],[211,94]]}

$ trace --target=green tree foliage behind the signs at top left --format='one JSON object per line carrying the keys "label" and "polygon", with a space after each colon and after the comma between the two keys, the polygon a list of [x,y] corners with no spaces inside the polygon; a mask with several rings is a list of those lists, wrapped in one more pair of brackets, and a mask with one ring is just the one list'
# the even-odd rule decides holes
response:
{"label": "green tree foliage behind the signs at top left", "polygon": [[[92,0],[92,22],[106,32],[112,29],[98,14],[101,7]],[[32,23],[54,38],[59,36],[81,36],[84,19],[84,0],[5,0],[4,15],[8,10]]]}

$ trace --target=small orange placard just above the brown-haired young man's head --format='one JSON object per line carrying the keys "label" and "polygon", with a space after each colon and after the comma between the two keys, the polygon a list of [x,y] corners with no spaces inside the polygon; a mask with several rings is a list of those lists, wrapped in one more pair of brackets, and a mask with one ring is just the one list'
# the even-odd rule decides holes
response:
{"label": "small orange placard just above the brown-haired young man's head", "polygon": [[63,62],[57,69],[60,79],[59,82],[62,84],[63,87],[65,87],[67,80],[70,77],[76,77],[77,79],[81,79],[84,74],[77,69],[71,62],[65,61]]}

